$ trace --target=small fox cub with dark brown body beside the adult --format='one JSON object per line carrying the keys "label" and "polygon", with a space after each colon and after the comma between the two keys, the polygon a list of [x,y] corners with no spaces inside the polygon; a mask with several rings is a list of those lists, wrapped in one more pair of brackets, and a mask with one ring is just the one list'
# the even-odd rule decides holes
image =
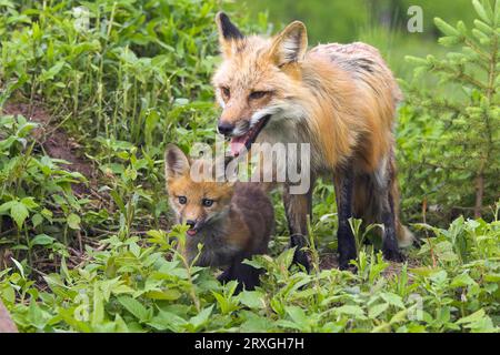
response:
{"label": "small fox cub with dark brown body beside the adult", "polygon": [[200,253],[197,265],[224,267],[219,281],[237,280],[238,291],[253,290],[260,272],[242,261],[268,251],[274,229],[271,201],[254,183],[216,182],[213,176],[194,181],[191,179],[194,163],[207,162],[191,162],[173,144],[167,148],[164,164],[170,205],[177,222],[189,226],[184,254],[192,262]]}

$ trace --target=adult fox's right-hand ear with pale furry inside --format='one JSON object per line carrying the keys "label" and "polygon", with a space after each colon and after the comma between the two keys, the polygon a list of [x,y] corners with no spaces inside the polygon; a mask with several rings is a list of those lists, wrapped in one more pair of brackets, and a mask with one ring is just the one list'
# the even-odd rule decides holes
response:
{"label": "adult fox's right-hand ear with pale furry inside", "polygon": [[306,26],[293,21],[279,33],[271,45],[271,55],[278,67],[299,62],[308,49],[308,33]]}

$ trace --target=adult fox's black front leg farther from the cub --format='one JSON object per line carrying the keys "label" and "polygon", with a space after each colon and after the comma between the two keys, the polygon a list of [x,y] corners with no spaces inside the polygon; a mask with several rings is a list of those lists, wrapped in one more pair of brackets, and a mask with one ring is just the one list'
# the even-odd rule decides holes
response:
{"label": "adult fox's black front leg farther from the cub", "polygon": [[352,217],[352,192],[354,187],[354,176],[350,168],[339,171],[334,178],[337,210],[339,216],[339,229],[337,239],[339,242],[339,267],[350,268],[349,262],[356,260],[356,240],[352,234],[349,219]]}

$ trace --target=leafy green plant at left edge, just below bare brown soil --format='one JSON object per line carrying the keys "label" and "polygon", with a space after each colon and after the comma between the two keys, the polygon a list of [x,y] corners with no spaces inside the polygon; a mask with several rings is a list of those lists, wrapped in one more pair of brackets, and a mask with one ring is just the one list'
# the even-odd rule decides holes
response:
{"label": "leafy green plant at left edge, just below bare brown soil", "polygon": [[27,251],[30,261],[36,246],[66,253],[61,243],[69,246],[68,233],[79,229],[76,212],[84,204],[71,190],[84,178],[62,170],[63,161],[34,154],[36,128],[22,115],[0,115],[0,242],[17,256]]}

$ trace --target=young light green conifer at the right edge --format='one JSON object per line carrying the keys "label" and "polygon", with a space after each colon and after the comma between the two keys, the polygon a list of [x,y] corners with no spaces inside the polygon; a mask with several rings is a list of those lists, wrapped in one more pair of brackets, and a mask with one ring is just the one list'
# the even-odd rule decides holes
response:
{"label": "young light green conifer at the right edge", "polygon": [[[428,191],[426,194],[437,195],[432,201],[442,203],[443,209],[456,205],[461,213],[470,209],[479,217],[487,205],[497,201],[500,189],[500,165],[496,159],[500,154],[500,2],[496,0],[492,6],[489,0],[473,0],[472,4],[478,19],[471,31],[462,21],[453,27],[434,19],[444,33],[439,43],[451,48],[462,45],[460,52],[451,51],[444,59],[431,54],[426,59],[408,58],[418,67],[414,84],[407,87],[407,100],[411,105],[407,110],[412,113],[406,113],[417,120],[419,115],[427,118],[421,120],[427,120],[426,125],[432,118],[434,125],[420,129],[423,134],[432,131],[419,153],[430,168],[424,171],[423,182],[420,180]],[[438,84],[450,85],[458,93],[439,97],[422,90],[419,82],[428,73],[440,79]]]}

